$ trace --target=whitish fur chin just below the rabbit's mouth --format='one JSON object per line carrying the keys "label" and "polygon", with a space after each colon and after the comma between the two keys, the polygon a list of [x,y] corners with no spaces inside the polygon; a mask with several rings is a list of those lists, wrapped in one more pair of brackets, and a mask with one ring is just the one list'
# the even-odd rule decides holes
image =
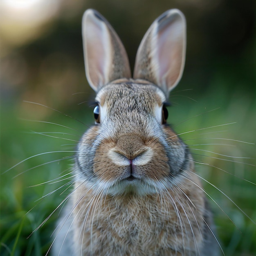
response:
{"label": "whitish fur chin just below the rabbit's mouth", "polygon": [[163,190],[166,190],[164,182],[153,181],[150,179],[141,180],[128,178],[117,182],[104,182],[98,180],[96,186],[98,186],[98,188],[101,188],[97,189],[98,191],[103,190],[107,195],[110,196],[119,196],[127,194],[144,196],[162,193]]}

